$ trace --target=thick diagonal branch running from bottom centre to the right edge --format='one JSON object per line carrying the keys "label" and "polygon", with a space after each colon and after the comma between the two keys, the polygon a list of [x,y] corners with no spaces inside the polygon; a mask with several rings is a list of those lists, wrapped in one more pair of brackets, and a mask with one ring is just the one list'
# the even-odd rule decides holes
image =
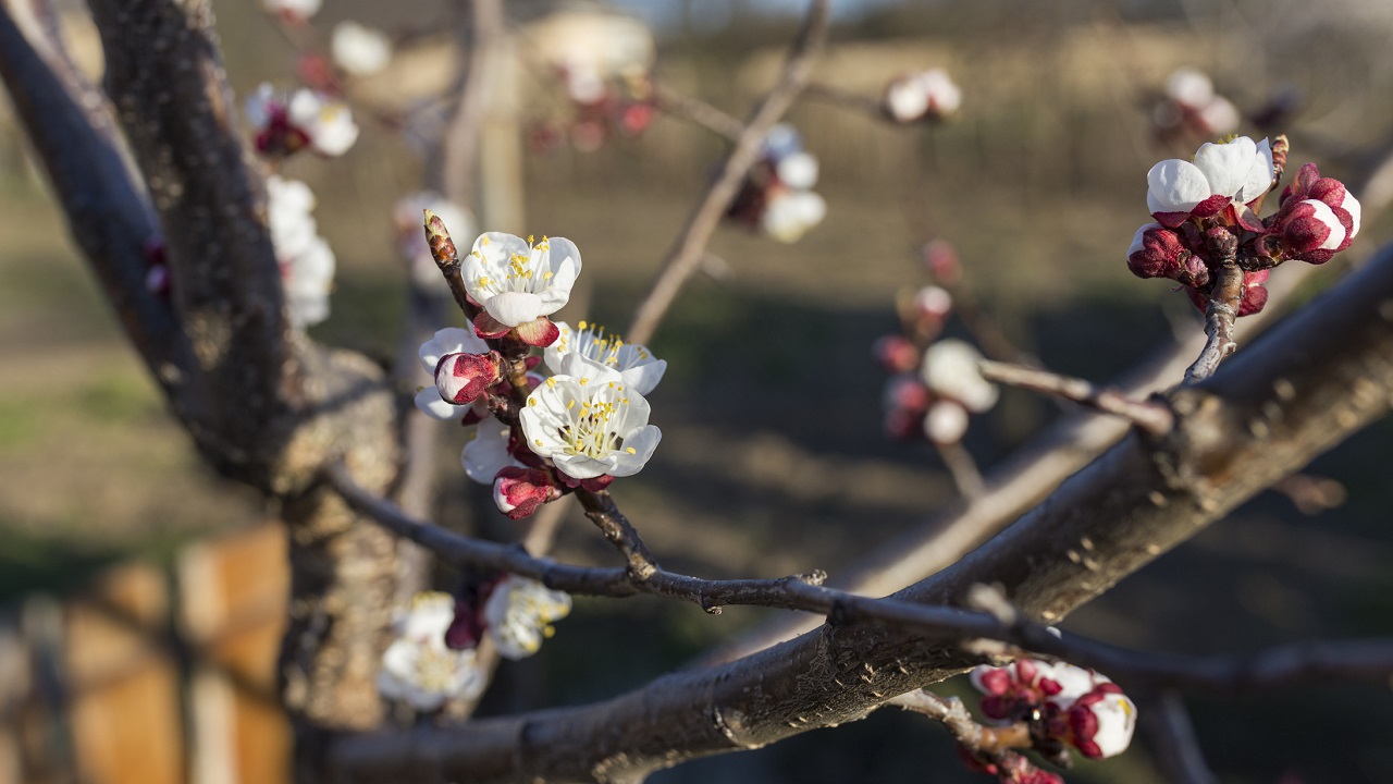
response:
{"label": "thick diagonal branch running from bottom centre to the right edge", "polygon": [[[1131,435],[989,544],[896,598],[953,603],[975,583],[997,583],[1028,617],[1061,619],[1386,413],[1390,299],[1393,254],[1383,254],[1213,379],[1178,392],[1172,437]],[[464,732],[355,738],[336,748],[338,771],[354,781],[400,778],[404,756],[418,753],[475,781],[624,780],[858,718],[971,663],[956,646],[903,629],[825,625],[603,703],[482,721]]]}

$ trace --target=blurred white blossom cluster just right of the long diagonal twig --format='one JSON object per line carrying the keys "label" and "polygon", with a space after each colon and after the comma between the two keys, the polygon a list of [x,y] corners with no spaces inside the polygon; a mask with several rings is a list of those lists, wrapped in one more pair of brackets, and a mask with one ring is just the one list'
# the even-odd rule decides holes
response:
{"label": "blurred white blossom cluster just right of the long diagonal twig", "polygon": [[816,184],[818,159],[804,149],[802,137],[793,126],[775,126],[726,215],[780,243],[795,243],[827,213],[827,202],[812,190]]}

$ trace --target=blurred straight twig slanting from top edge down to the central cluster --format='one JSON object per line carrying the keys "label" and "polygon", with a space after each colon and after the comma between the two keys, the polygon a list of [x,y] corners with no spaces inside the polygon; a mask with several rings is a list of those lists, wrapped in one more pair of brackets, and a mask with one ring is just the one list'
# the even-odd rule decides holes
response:
{"label": "blurred straight twig slanting from top edge down to the central cluster", "polygon": [[769,95],[765,96],[759,107],[755,109],[745,124],[740,141],[736,142],[726,165],[717,177],[702,194],[696,209],[687,219],[687,226],[673,243],[663,259],[662,269],[653,278],[648,294],[634,311],[634,322],[628,328],[628,339],[634,343],[648,343],[657,324],[663,319],[667,308],[677,299],[677,292],[683,283],[696,271],[706,254],[706,243],[710,240],[720,216],[726,213],[730,202],[740,193],[740,184],[745,174],[759,160],[759,151],[769,128],[783,117],[784,112],[793,106],[794,99],[808,84],[812,74],[812,63],[827,35],[827,0],[812,0],[802,29],[794,40],[784,63],[783,74]]}

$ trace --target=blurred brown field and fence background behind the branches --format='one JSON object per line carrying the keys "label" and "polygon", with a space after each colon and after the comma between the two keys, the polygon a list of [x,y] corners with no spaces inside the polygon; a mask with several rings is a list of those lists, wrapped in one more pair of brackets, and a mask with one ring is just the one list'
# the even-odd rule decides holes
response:
{"label": "blurred brown field and fence background behind the branches", "polygon": [[[240,96],[262,81],[293,81],[294,47],[274,18],[251,1],[213,6]],[[561,315],[623,329],[727,142],[659,114],[632,138],[592,145],[563,133],[542,144],[542,131],[571,117],[556,80],[528,66],[552,45],[539,25],[557,4],[507,6],[520,57],[489,142],[504,169],[490,181],[506,190],[486,194],[497,204],[482,211],[515,225],[482,227],[574,240],[586,289]],[[657,82],[744,117],[775,80],[802,4],[564,6],[637,15],[657,40]],[[1158,124],[1176,68],[1212,77],[1243,116],[1238,133],[1286,133],[1294,166],[1315,160],[1351,186],[1368,181],[1393,142],[1393,4],[1382,0],[837,0],[833,8],[815,74],[826,92],[879,99],[892,77],[940,67],[963,106],[949,121],[911,127],[812,96],[790,113],[820,163],[826,218],[793,244],[720,229],[709,273],[687,286],[651,343],[669,361],[651,396],[663,444],[616,497],[674,569],[836,573],[956,498],[928,444],[885,434],[887,374],[872,354],[878,336],[898,329],[897,293],[931,280],[921,259],[929,240],[956,247],[964,287],[1013,345],[1064,374],[1105,381],[1173,331],[1201,329],[1184,296],[1133,278],[1124,262],[1148,220],[1146,170],[1208,138]],[[79,61],[99,73],[91,24],[79,8],[65,20]],[[333,312],[312,335],[386,363],[407,280],[391,209],[430,177],[414,140],[432,93],[453,84],[454,22],[436,3],[333,0],[315,25],[341,20],[410,42],[387,71],[355,84],[358,144],[337,160],[293,159],[283,174],[313,188],[319,233],[337,257]],[[1368,209],[1360,240],[1305,294],[1387,234],[1385,216]],[[957,321],[947,333],[970,338]],[[203,467],[166,413],[68,240],[8,103],[0,103],[0,781],[284,781],[274,509]],[[974,419],[965,446],[989,470],[1059,413],[1006,391]],[[1393,633],[1389,435],[1379,423],[1311,466],[1340,483],[1343,505],[1302,512],[1284,494],[1263,494],[1064,626],[1197,654]],[[507,536],[506,520],[479,513],[476,488],[457,469],[462,444],[447,428],[437,519]],[[557,557],[612,559],[578,515],[563,525]],[[766,617],[578,598],[539,656],[504,664],[483,713],[613,696]],[[1222,781],[1393,781],[1387,689],[1187,698]],[[1082,762],[1068,780],[1162,781],[1152,755],[1141,739],[1116,760]],[[900,711],[653,777],[925,780],[986,777],[963,770],[939,727]]]}

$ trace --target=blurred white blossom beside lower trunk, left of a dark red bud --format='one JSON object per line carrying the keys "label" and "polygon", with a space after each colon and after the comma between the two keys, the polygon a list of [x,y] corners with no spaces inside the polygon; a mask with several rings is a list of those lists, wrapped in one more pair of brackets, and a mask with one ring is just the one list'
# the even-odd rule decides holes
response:
{"label": "blurred white blossom beside lower trunk, left of a dark red bud", "polygon": [[382,654],[378,692],[410,703],[417,710],[437,710],[449,699],[474,699],[486,677],[474,649],[450,650],[444,632],[454,619],[454,597],[418,593],[411,610],[394,625],[397,638]]}

